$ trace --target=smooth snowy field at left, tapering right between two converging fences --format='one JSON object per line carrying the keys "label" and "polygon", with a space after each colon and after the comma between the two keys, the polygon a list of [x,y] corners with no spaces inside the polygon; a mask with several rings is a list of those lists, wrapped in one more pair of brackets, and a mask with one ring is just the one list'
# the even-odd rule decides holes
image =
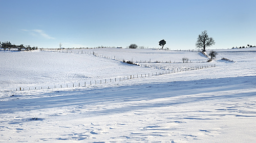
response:
{"label": "smooth snowy field at left, tapering right between two converging fences", "polygon": [[32,88],[159,71],[139,66],[131,68],[129,64],[92,54],[1,51],[0,57],[0,89]]}

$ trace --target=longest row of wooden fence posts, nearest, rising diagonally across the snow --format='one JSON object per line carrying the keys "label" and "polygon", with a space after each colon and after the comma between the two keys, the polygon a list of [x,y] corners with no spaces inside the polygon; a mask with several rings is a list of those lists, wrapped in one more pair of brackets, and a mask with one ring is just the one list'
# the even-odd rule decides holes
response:
{"label": "longest row of wooden fence posts, nearest, rising diagonally across the snow", "polygon": [[196,67],[191,67],[191,68],[175,68],[172,70],[159,71],[159,72],[155,72],[155,73],[135,74],[135,75],[133,74],[133,75],[128,75],[128,76],[119,76],[119,77],[115,77],[115,78],[87,80],[87,81],[52,84],[52,85],[42,85],[42,86],[36,86],[36,87],[26,87],[26,88],[20,87],[20,88],[16,89],[16,91],[60,89],[60,88],[72,88],[72,87],[73,88],[89,87],[89,86],[98,85],[98,84],[105,84],[105,83],[111,83],[111,82],[117,82],[117,81],[123,81],[123,80],[135,79],[135,78],[159,76],[159,75],[165,75],[165,74],[171,74],[171,73],[177,73],[177,72],[183,72],[183,71],[189,71],[189,70],[199,70],[199,69],[211,68],[211,67],[216,67],[216,65],[214,64],[214,65],[207,65],[207,66],[196,66]]}

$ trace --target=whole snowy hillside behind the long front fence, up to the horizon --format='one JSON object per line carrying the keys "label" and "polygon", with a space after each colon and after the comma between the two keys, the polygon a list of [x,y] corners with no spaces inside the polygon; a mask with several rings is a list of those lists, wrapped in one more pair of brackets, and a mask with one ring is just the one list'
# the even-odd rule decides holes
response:
{"label": "whole snowy hillside behind the long front fence, up to the horizon", "polygon": [[[12,52],[1,51],[0,63],[0,89],[15,90],[21,88],[52,88],[56,84],[94,81],[94,80],[110,80],[110,78],[123,78],[129,75],[152,74],[162,72],[162,70],[173,70],[174,68],[194,67],[209,65],[209,63],[194,63],[187,66],[177,64],[155,63],[138,63],[142,66],[151,65],[151,68],[142,68],[132,66],[122,62],[113,60],[121,59],[140,59],[151,58],[156,61],[164,59],[172,59],[179,61],[183,56],[200,61],[207,61],[200,52],[163,52],[161,50],[138,49],[138,53],[134,49],[94,49],[95,52],[105,53],[106,56],[112,56],[112,59],[95,57],[93,54],[81,54],[81,50],[73,50],[73,53],[66,52],[49,52],[49,51],[33,51],[33,52]],[[102,50],[102,51],[101,51]],[[78,53],[80,51],[80,53]],[[143,52],[144,51],[144,52]],[[71,51],[69,51],[71,52]],[[83,53],[89,53],[83,50]],[[93,51],[90,49],[90,52]],[[158,54],[157,54],[158,53]],[[130,58],[128,58],[130,57]],[[152,66],[153,65],[153,66]],[[162,69],[162,70],[159,70]],[[166,72],[166,71],[164,71]],[[168,71],[169,72],[169,71]],[[60,85],[58,85],[59,87]]]}

